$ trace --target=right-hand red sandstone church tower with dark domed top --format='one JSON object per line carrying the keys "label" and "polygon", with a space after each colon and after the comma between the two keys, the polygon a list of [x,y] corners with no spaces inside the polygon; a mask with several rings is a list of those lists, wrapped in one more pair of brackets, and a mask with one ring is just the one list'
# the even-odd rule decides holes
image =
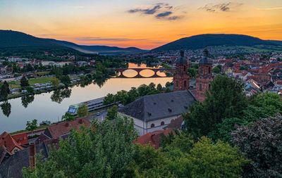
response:
{"label": "right-hand red sandstone church tower with dark domed top", "polygon": [[198,75],[196,77],[197,99],[204,101],[206,91],[211,87],[212,76],[212,60],[209,58],[209,51],[204,49],[204,56],[199,62]]}

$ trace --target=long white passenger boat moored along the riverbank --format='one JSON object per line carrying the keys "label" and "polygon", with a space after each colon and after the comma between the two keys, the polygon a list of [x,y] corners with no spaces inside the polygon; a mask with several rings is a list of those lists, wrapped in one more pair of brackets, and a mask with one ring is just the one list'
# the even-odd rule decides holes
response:
{"label": "long white passenger boat moored along the riverbank", "polygon": [[82,103],[78,103],[78,104],[69,106],[67,113],[71,113],[72,115],[77,115],[78,114],[78,107],[82,106],[83,104],[85,104],[87,106],[88,112],[92,112],[94,110],[99,110],[99,109],[102,109],[102,108],[106,108],[108,106],[112,106],[116,103],[104,105],[104,97],[96,98],[96,99],[93,99],[93,100],[90,100],[90,101],[85,101],[85,102],[82,102]]}

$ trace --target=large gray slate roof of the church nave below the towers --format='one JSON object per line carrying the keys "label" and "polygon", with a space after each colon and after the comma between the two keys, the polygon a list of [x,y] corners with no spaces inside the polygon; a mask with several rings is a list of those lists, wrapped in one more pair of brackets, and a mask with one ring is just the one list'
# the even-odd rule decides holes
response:
{"label": "large gray slate roof of the church nave below the towers", "polygon": [[197,101],[195,96],[189,90],[153,94],[142,96],[120,108],[118,112],[144,121],[159,120],[188,112],[189,105],[195,101]]}

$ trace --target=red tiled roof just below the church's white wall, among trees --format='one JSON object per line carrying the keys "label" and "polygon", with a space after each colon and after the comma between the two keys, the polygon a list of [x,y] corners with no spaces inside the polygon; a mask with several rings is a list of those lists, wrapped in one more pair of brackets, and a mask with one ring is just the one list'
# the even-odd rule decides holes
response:
{"label": "red tiled roof just below the church's white wall, among trees", "polygon": [[158,149],[159,144],[161,144],[162,137],[168,136],[169,133],[173,133],[173,135],[176,135],[176,132],[174,132],[173,129],[164,129],[164,130],[156,130],[154,132],[149,132],[145,135],[139,136],[137,138],[137,141],[134,142],[134,144],[141,144],[141,145],[147,145],[151,144],[151,146],[154,146],[154,148]]}

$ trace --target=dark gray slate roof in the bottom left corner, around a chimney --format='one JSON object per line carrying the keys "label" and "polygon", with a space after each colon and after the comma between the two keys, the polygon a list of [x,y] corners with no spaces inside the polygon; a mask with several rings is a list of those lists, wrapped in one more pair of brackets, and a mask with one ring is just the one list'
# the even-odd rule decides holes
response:
{"label": "dark gray slate roof in the bottom left corner, around a chimney", "polygon": [[[39,153],[40,150],[42,150],[42,155],[47,157],[47,151],[44,146],[44,143],[36,145],[36,153]],[[23,167],[30,166],[30,148],[27,147],[23,149],[22,151],[17,151],[13,155],[11,155],[9,158],[4,160],[3,163],[0,164],[0,178],[21,178],[22,175],[22,169]]]}

